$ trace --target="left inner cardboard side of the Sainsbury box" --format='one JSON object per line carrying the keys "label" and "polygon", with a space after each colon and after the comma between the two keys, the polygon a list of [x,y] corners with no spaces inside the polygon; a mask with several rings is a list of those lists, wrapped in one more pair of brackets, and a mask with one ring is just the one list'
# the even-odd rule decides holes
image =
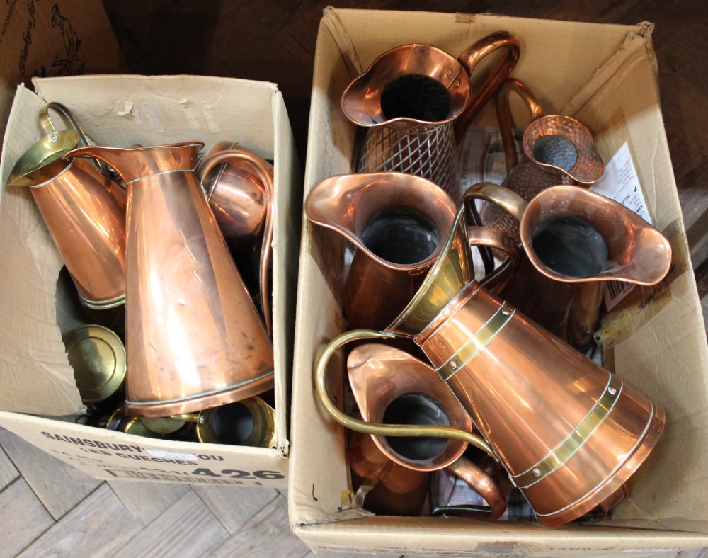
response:
{"label": "left inner cardboard side of the Sainsbury box", "polygon": [[[19,86],[14,103],[26,108],[13,111],[8,123],[18,132],[4,138],[3,185],[17,159],[41,137],[36,118],[16,121],[19,115],[36,115],[43,105],[40,99]],[[0,331],[0,408],[75,413],[82,408],[81,397],[64,353],[54,303],[64,263],[27,188],[3,187],[0,238],[23,239],[0,243],[0,315],[6,324]]]}

